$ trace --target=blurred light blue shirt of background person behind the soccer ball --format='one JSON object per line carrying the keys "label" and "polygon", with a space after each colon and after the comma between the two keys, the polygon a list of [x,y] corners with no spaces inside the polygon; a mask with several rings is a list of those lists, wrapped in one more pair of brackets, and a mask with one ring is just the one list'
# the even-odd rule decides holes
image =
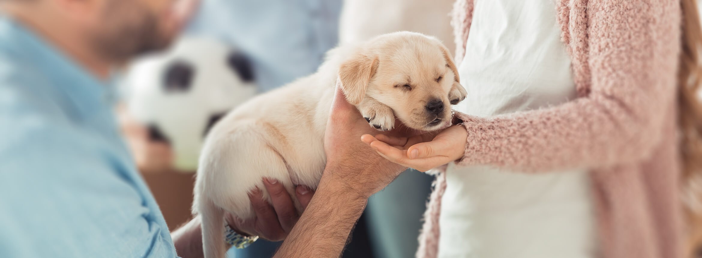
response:
{"label": "blurred light blue shirt of background person behind the soccer ball", "polygon": [[338,42],[341,0],[204,0],[187,34],[216,36],[253,63],[261,92],[317,71]]}

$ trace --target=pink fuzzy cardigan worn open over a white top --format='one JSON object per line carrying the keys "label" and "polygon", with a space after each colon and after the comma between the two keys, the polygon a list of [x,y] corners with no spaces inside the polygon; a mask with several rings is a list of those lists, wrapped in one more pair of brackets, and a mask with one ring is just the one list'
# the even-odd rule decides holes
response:
{"label": "pink fuzzy cardigan worn open over a white top", "polygon": [[[680,2],[560,0],[556,8],[578,98],[491,118],[458,114],[468,142],[457,162],[524,171],[590,168],[598,257],[680,257]],[[472,11],[473,0],[454,6],[457,63]],[[437,256],[444,174],[430,197],[417,257]]]}

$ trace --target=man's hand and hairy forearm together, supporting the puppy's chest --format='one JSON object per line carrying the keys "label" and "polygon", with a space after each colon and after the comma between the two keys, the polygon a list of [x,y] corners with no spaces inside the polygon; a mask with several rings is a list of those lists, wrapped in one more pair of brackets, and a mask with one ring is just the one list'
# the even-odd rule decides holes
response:
{"label": "man's hand and hairy forearm together, supporting the puppy's chest", "polygon": [[[396,125],[392,134],[412,136],[407,131]],[[322,180],[275,257],[339,257],[368,197],[405,169],[361,142],[361,135],[373,132],[337,88],[324,135],[326,167]]]}

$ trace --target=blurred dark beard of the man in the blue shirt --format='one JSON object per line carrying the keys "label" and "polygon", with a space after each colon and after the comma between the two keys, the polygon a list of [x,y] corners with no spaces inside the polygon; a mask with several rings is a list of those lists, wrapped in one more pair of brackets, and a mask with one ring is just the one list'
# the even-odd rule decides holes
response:
{"label": "blurred dark beard of the man in the blue shirt", "polygon": [[131,58],[168,46],[156,14],[135,0],[111,0],[103,15],[105,23],[91,33],[93,48],[105,60],[123,64]]}

